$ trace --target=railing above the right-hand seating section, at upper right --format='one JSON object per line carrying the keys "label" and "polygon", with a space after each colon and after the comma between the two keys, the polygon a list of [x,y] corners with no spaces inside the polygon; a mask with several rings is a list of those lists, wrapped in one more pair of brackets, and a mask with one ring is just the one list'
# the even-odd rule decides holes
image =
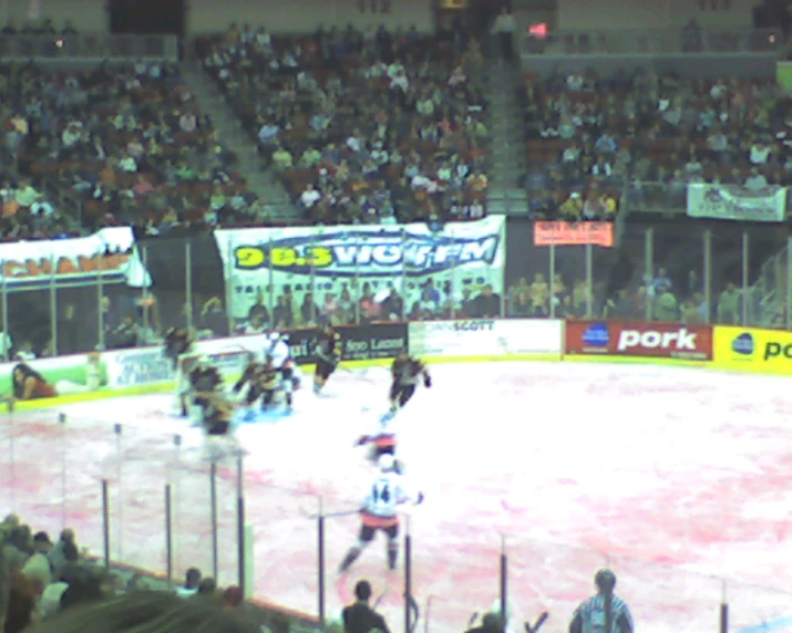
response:
{"label": "railing above the right-hand seating section, at upper right", "polygon": [[774,29],[564,29],[545,38],[525,33],[523,55],[734,54],[783,49]]}

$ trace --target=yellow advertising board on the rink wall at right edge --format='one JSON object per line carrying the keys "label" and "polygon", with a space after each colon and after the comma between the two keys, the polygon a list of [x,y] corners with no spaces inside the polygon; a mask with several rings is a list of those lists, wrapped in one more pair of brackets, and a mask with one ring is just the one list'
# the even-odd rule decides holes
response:
{"label": "yellow advertising board on the rink wall at right edge", "polygon": [[712,361],[717,369],[792,375],[792,332],[717,326]]}

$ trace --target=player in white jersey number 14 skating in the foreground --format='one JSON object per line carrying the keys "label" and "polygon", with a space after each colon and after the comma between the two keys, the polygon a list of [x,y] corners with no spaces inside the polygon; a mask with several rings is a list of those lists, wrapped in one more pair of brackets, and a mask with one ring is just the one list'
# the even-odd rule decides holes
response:
{"label": "player in white jersey number 14 skating in the foreground", "polygon": [[358,542],[349,549],[339,567],[339,573],[347,571],[358,560],[363,549],[374,540],[378,531],[388,536],[388,569],[394,570],[399,558],[399,516],[398,507],[411,502],[423,502],[423,494],[410,496],[402,484],[402,477],[395,470],[392,455],[383,455],[379,460],[379,473],[360,509],[361,527]]}

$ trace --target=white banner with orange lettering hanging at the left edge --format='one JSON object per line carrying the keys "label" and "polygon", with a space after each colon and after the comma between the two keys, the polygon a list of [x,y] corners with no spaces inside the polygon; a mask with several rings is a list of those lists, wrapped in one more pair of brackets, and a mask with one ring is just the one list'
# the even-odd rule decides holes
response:
{"label": "white banner with orange lettering hanging at the left edge", "polygon": [[151,284],[128,227],[101,229],[82,238],[0,245],[0,282],[35,287],[49,284],[52,277],[55,282],[102,277],[106,283]]}

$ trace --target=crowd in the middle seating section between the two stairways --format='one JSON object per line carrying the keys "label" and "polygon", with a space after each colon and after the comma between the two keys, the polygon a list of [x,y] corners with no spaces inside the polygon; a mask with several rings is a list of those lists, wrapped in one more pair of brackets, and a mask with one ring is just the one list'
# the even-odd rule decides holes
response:
{"label": "crowd in the middle seating section between the two stairways", "polygon": [[486,100],[473,38],[232,25],[199,43],[267,164],[313,224],[486,212]]}

